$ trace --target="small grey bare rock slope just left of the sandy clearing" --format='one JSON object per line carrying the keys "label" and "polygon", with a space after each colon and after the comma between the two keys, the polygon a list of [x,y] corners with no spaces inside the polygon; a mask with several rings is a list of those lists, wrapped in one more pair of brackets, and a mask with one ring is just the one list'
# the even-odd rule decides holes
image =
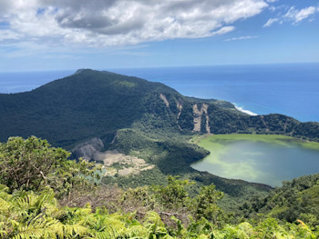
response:
{"label": "small grey bare rock slope just left of the sandy clearing", "polygon": [[83,157],[86,160],[96,160],[96,154],[104,148],[104,144],[98,137],[87,140],[84,143],[77,144],[72,150],[72,154],[76,157]]}

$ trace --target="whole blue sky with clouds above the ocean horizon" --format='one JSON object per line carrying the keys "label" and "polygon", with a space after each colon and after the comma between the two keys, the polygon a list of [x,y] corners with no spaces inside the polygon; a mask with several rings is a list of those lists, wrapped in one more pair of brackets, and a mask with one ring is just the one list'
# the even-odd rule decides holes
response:
{"label": "whole blue sky with clouds above the ocean horizon", "polygon": [[306,62],[318,0],[0,0],[0,72]]}

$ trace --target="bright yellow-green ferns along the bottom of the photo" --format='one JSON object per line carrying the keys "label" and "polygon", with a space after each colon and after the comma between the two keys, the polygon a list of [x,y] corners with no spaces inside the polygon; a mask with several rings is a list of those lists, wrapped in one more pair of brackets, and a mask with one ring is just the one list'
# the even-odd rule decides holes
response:
{"label": "bright yellow-green ferns along the bottom of the photo", "polygon": [[[253,226],[218,226],[201,217],[182,224],[173,214],[149,211],[139,219],[138,212],[109,214],[106,208],[61,206],[52,191],[7,194],[0,189],[0,238],[316,238],[307,225],[280,224],[269,218]],[[202,197],[202,196],[201,196]],[[210,204],[210,203],[209,203]],[[211,209],[213,210],[213,204]],[[160,215],[169,215],[171,225]]]}

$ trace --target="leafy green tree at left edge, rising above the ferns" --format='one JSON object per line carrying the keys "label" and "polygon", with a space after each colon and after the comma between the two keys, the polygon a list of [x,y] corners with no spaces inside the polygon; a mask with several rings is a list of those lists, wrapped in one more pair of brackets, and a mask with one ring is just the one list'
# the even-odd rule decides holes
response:
{"label": "leafy green tree at left edge, rising above the ferns", "polygon": [[87,176],[97,177],[98,167],[82,159],[67,160],[70,153],[51,147],[46,140],[31,136],[10,137],[0,144],[0,183],[15,189],[38,191],[51,187],[66,193],[76,184],[87,184]]}

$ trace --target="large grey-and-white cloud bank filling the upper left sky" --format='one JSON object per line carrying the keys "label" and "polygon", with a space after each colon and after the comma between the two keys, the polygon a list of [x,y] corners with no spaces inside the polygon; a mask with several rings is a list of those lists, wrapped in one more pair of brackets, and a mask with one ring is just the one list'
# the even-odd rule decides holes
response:
{"label": "large grey-and-white cloud bank filling the upper left sky", "polygon": [[232,23],[258,15],[264,0],[0,0],[0,41],[137,45],[226,34]]}

